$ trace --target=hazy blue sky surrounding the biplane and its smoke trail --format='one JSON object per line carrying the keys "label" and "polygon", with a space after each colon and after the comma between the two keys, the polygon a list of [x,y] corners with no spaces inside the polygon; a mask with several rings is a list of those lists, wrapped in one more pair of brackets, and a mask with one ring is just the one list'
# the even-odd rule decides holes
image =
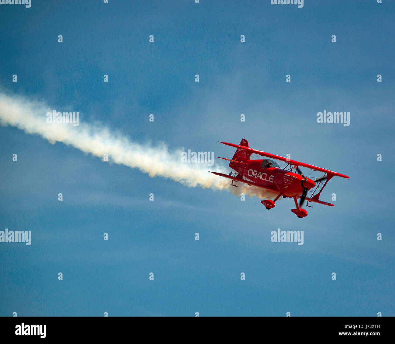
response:
{"label": "hazy blue sky surrounding the biplane and its smoke trail", "polygon": [[[245,138],[350,176],[320,197],[335,207],[298,219],[289,199],[267,211],[0,127],[0,230],[32,231],[30,246],[0,243],[0,315],[395,315],[394,12],[385,0],[0,5],[6,93],[73,106],[131,141],[231,157],[217,141]],[[318,124],[324,109],[350,126]],[[304,244],[271,242],[277,228]]]}

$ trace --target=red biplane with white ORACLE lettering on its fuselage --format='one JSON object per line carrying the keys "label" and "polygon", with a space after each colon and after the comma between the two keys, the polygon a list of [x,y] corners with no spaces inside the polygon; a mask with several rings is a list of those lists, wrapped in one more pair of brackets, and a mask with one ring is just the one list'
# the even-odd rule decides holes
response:
{"label": "red biplane with white ORACLE lettering on its fuselage", "polygon": [[[245,139],[241,140],[240,144],[227,142],[220,143],[237,148],[232,159],[220,158],[219,156],[216,156],[216,158],[230,161],[229,167],[234,169],[236,172],[231,172],[229,175],[210,171],[211,173],[232,179],[231,185],[235,187],[237,187],[237,185],[233,184],[233,182],[236,181],[246,183],[247,185],[258,186],[273,194],[277,194],[274,200],[261,201],[266,209],[274,208],[276,205],[276,200],[278,200],[278,198],[281,196],[283,198],[293,198],[296,208],[291,209],[291,211],[295,213],[299,219],[307,216],[307,211],[301,208],[304,201],[307,201],[306,205],[310,208],[311,206],[308,205],[308,202],[320,203],[333,207],[333,204],[319,200],[322,190],[332,177],[339,176],[342,178],[350,178],[346,175],[342,175],[341,173],[337,173],[329,169],[290,160],[288,158],[284,158],[283,156],[278,156],[250,148],[248,147],[248,141]],[[271,159],[250,160],[252,153],[267,158],[281,160],[286,163],[286,166],[284,168],[280,168],[280,166],[278,166],[277,163]],[[313,181],[312,179],[309,179],[303,175],[299,169],[299,166],[307,167],[313,171],[324,172],[325,174],[323,177]],[[311,192],[310,197],[307,197],[308,190]],[[297,198],[300,199],[299,205],[297,203]]]}

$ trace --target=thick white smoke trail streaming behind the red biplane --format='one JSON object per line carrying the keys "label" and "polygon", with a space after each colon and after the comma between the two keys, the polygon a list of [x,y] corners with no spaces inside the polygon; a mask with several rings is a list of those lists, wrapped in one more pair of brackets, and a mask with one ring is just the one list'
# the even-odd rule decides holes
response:
{"label": "thick white smoke trail streaming behind the red biplane", "polygon": [[156,146],[134,143],[122,133],[98,124],[49,124],[46,122],[47,112],[52,112],[52,109],[43,102],[6,95],[0,91],[2,126],[11,125],[26,133],[40,135],[52,144],[62,142],[99,158],[108,154],[112,162],[138,168],[150,177],[170,178],[188,187],[226,189],[238,196],[241,193],[259,198],[275,196],[261,188],[245,184],[234,188],[229,185],[229,179],[208,172],[211,170],[226,173],[229,168],[222,165],[209,167],[207,163],[182,163],[181,150],[171,152],[164,143]]}

